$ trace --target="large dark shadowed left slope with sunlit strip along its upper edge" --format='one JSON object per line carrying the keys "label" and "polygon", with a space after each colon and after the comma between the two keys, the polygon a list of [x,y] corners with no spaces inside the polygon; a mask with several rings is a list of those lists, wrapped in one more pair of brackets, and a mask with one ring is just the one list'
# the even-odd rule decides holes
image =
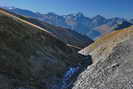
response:
{"label": "large dark shadowed left slope with sunlit strip along its upper edge", "polygon": [[0,9],[0,89],[59,89],[82,60],[47,30]]}

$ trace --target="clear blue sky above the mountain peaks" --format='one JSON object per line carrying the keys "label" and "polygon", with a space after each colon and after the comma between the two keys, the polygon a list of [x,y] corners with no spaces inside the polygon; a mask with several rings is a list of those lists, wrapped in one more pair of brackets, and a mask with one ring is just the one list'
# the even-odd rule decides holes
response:
{"label": "clear blue sky above the mountain peaks", "polygon": [[88,17],[133,18],[133,0],[0,0],[0,5],[60,15],[82,12]]}

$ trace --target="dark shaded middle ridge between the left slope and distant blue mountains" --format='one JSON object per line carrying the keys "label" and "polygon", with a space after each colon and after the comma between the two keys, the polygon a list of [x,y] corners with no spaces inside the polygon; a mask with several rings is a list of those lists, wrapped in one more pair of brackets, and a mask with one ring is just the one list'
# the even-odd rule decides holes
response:
{"label": "dark shaded middle ridge between the left slope and distant blue mountains", "polygon": [[81,35],[70,29],[53,26],[33,18],[27,18],[27,21],[46,29],[51,34],[55,35],[57,39],[63,41],[68,46],[76,47],[79,50],[93,43],[93,40],[89,37]]}

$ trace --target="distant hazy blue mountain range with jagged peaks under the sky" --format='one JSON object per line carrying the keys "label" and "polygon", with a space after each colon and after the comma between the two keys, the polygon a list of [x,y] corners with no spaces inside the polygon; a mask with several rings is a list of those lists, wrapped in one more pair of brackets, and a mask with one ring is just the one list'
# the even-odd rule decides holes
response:
{"label": "distant hazy blue mountain range with jagged peaks under the sky", "polygon": [[[20,15],[36,18],[38,20],[53,24],[55,26],[60,26],[64,28],[72,29],[82,35],[87,35],[92,39],[102,36],[108,32],[112,32],[115,25],[127,22],[126,19],[114,17],[107,19],[101,15],[97,15],[93,18],[86,17],[83,13],[79,12],[77,14],[68,15],[57,15],[55,13],[42,14],[38,12],[32,12],[30,10],[14,8],[14,7],[4,7],[5,9],[15,12]],[[132,22],[128,21],[128,22]]]}

